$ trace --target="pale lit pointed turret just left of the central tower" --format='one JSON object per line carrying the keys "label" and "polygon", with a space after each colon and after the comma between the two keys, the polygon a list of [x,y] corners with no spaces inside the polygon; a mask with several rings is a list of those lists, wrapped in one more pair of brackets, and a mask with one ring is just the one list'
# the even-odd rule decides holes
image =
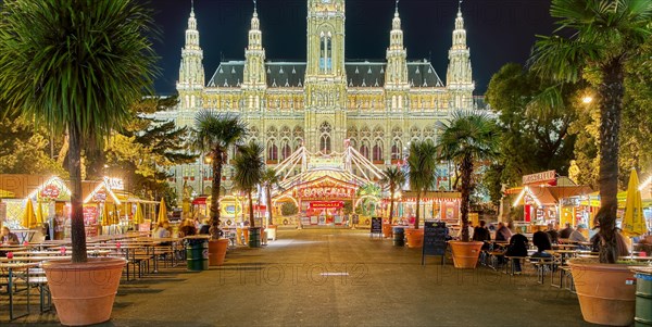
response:
{"label": "pale lit pointed turret just left of the central tower", "polygon": [[265,87],[265,49],[263,48],[263,34],[261,22],[258,16],[255,0],[253,1],[253,16],[251,17],[251,29],[249,29],[249,45],[244,49],[244,83],[243,88]]}

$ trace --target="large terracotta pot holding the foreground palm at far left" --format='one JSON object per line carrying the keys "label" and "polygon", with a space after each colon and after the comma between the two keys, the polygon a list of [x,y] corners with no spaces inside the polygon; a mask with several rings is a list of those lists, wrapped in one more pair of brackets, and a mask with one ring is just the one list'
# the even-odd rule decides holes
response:
{"label": "large terracotta pot holding the foreground palm at far left", "polygon": [[86,263],[45,262],[61,324],[83,326],[109,320],[125,264],[117,257],[89,257]]}

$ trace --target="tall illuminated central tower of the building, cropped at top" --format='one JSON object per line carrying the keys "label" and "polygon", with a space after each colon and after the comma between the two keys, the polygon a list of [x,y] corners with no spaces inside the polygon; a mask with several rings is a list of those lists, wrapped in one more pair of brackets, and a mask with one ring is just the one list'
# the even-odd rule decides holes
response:
{"label": "tall illuminated central tower of the building, cropped at top", "polygon": [[343,150],[347,135],[344,0],[308,1],[305,142],[310,151]]}

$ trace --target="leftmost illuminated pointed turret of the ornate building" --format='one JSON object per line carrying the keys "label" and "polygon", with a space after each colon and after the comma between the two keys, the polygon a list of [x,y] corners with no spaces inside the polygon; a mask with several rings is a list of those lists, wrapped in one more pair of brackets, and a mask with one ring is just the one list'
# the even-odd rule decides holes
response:
{"label": "leftmost illuminated pointed turret of the ornate building", "polygon": [[186,29],[186,45],[181,49],[181,63],[177,91],[179,92],[183,109],[200,108],[201,91],[204,87],[203,51],[199,46],[199,30],[195,18],[195,3],[190,7],[188,28]]}

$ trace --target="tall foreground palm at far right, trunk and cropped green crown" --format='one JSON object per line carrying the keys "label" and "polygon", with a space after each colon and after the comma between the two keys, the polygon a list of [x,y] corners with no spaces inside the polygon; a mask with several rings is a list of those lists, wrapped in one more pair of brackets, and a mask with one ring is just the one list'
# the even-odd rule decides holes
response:
{"label": "tall foreground palm at far right, trunk and cropped green crown", "polygon": [[618,131],[623,111],[625,64],[651,37],[652,1],[553,0],[557,28],[539,36],[530,65],[559,80],[585,79],[598,89],[600,106],[600,261],[617,259]]}

